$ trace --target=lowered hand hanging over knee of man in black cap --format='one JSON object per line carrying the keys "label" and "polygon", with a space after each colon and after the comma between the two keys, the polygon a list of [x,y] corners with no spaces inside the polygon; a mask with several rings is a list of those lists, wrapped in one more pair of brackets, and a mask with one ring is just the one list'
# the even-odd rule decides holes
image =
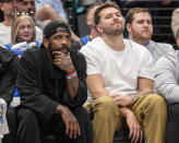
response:
{"label": "lowered hand hanging over knee of man in black cap", "polygon": [[81,135],[81,130],[76,118],[65,106],[59,105],[62,120],[65,123],[65,134],[71,138],[76,139],[76,135]]}

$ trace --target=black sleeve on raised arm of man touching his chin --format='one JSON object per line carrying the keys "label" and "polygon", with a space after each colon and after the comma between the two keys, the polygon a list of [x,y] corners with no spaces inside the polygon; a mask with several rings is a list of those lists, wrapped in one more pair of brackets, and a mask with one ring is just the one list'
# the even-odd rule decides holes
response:
{"label": "black sleeve on raised arm of man touching his chin", "polygon": [[79,78],[79,92],[76,97],[73,100],[70,100],[67,93],[64,97],[64,103],[67,103],[70,107],[79,107],[83,106],[87,98],[87,86],[86,86],[86,60],[82,53],[79,51],[71,51],[72,62],[75,67],[77,78]]}

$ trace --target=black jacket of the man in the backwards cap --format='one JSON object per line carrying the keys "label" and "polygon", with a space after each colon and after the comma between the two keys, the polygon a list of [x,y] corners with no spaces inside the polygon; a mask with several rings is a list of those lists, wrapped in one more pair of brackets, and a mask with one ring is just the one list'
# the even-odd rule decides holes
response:
{"label": "black jacket of the man in the backwards cap", "polygon": [[70,100],[65,72],[53,67],[44,48],[27,49],[20,59],[17,88],[21,105],[34,110],[38,119],[48,121],[59,104],[71,110],[81,107],[87,98],[86,61],[82,53],[70,56],[79,76],[79,93]]}

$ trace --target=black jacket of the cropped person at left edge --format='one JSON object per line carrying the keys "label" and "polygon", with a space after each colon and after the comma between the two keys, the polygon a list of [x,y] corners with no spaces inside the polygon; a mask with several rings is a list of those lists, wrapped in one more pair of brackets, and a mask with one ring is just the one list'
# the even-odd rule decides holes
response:
{"label": "black jacket of the cropped person at left edge", "polygon": [[19,58],[15,53],[0,47],[0,98],[9,105],[13,97],[19,68]]}

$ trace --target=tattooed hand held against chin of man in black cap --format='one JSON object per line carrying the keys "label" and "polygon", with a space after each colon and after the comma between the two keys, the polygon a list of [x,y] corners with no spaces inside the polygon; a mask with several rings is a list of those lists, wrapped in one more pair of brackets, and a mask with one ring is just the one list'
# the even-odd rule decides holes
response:
{"label": "tattooed hand held against chin of man in black cap", "polygon": [[73,73],[75,71],[71,57],[70,57],[70,52],[65,55],[61,51],[53,51],[52,53],[56,57],[53,60],[55,65],[65,71],[67,73]]}

